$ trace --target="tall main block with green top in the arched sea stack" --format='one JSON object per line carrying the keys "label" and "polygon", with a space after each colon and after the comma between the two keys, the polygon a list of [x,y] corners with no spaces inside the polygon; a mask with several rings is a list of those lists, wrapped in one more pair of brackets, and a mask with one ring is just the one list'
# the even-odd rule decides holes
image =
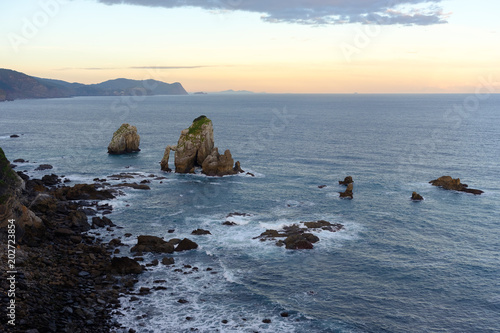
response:
{"label": "tall main block with green top in the arched sea stack", "polygon": [[200,116],[181,132],[175,150],[175,172],[194,173],[194,168],[203,164],[213,148],[212,121],[206,116]]}

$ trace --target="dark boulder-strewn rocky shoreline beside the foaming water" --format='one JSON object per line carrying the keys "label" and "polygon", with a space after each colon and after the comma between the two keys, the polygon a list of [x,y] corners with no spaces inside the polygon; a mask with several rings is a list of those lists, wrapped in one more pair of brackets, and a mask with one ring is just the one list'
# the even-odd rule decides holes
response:
{"label": "dark boulder-strewn rocky shoreline beside the foaming water", "polygon": [[[2,304],[15,300],[15,326],[2,315],[0,331],[110,332],[118,328],[112,311],[120,306],[120,294],[136,280],[133,274],[116,271],[111,244],[86,233],[113,226],[106,217],[97,216],[91,226],[86,212],[109,212],[112,207],[99,201],[112,199],[117,192],[95,184],[47,185],[48,178],[45,182],[29,179],[7,163],[0,149],[0,299]],[[4,228],[8,220],[15,221],[14,267],[7,266]],[[14,298],[7,293],[7,278],[12,276],[8,272],[13,269],[17,272]]]}

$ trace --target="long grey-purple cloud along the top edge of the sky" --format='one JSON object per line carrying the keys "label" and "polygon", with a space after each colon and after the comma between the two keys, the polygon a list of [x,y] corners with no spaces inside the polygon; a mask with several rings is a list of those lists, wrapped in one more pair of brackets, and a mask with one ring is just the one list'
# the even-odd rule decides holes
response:
{"label": "long grey-purple cloud along the top edge of the sky", "polygon": [[97,0],[107,5],[198,7],[261,13],[271,23],[432,25],[446,23],[441,0]]}

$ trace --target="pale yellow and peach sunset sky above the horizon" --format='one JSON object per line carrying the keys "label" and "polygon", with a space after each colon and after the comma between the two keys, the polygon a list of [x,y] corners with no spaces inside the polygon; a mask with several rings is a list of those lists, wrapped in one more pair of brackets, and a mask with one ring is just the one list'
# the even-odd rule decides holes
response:
{"label": "pale yellow and peach sunset sky above the horizon", "polygon": [[0,68],[189,92],[473,93],[500,81],[497,0],[0,2]]}

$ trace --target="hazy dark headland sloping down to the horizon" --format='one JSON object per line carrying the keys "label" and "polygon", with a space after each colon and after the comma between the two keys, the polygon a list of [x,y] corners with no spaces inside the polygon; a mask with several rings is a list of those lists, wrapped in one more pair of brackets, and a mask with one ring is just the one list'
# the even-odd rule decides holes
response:
{"label": "hazy dark headland sloping down to the horizon", "polygon": [[0,69],[0,102],[29,98],[72,96],[187,95],[178,82],[116,79],[99,84],[70,83],[28,76],[10,69]]}

